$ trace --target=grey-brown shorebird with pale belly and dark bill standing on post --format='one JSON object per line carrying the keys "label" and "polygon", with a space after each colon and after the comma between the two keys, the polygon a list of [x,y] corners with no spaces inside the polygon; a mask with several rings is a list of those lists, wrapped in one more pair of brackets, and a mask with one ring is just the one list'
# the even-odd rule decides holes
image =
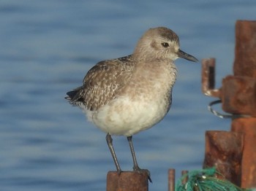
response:
{"label": "grey-brown shorebird with pale belly and dark bill standing on post", "polygon": [[172,30],[150,28],[132,55],[97,63],[84,77],[83,85],[67,93],[69,103],[79,106],[89,121],[107,133],[118,173],[121,168],[111,136],[127,136],[133,170],[142,171],[132,136],[151,128],[169,111],[177,74],[173,61],[177,58],[197,62],[197,58],[180,50],[178,36]]}

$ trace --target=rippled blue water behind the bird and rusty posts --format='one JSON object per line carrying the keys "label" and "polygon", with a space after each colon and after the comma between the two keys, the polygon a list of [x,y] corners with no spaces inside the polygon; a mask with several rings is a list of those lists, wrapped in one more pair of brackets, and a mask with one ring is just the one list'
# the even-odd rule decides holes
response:
{"label": "rippled blue water behind the bird and rusty posts", "polygon": [[[105,134],[64,100],[98,61],[129,55],[148,28],[167,26],[181,50],[217,58],[217,87],[232,74],[236,20],[255,20],[255,1],[0,2],[0,190],[105,190],[115,170]],[[173,106],[154,128],[134,136],[149,190],[167,190],[167,169],[200,169],[206,130],[229,130],[200,92],[200,63],[176,61]],[[127,140],[113,137],[123,170]]]}

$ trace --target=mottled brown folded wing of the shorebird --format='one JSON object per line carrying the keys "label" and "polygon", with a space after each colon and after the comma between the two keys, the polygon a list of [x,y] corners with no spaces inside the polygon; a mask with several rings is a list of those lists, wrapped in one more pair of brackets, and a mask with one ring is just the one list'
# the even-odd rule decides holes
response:
{"label": "mottled brown folded wing of the shorebird", "polygon": [[118,91],[129,82],[132,69],[130,56],[97,63],[86,74],[83,86],[76,89],[76,95],[72,100],[83,102],[91,111],[97,110],[116,98]]}

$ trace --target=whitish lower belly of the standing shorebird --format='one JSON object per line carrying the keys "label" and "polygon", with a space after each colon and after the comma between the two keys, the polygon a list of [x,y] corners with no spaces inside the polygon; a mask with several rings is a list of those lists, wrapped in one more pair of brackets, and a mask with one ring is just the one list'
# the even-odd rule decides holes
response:
{"label": "whitish lower belly of the standing shorebird", "polygon": [[162,120],[170,108],[170,98],[141,98],[136,101],[121,96],[97,112],[85,111],[90,121],[110,135],[132,136]]}

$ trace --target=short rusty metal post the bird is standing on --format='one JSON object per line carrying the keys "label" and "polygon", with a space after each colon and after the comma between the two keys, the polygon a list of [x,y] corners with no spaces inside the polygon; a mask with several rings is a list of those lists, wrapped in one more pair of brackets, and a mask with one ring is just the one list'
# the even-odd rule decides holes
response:
{"label": "short rusty metal post the bird is standing on", "polygon": [[148,191],[147,171],[109,171],[107,191]]}

